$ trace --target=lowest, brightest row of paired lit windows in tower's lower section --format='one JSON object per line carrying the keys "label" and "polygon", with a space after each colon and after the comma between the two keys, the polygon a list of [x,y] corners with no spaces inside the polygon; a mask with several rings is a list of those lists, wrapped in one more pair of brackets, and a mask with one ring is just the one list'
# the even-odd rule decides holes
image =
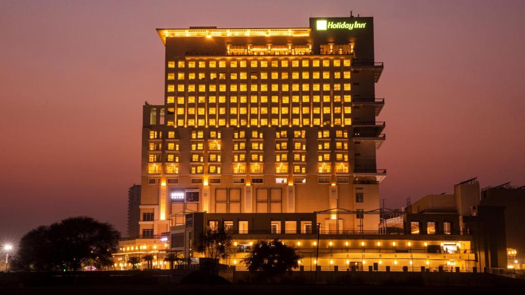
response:
{"label": "lowest, brightest row of paired lit windows in tower's lower section", "polygon": [[[275,173],[288,173],[288,163],[277,163],[275,164]],[[336,163],[335,164],[335,173],[348,173],[349,171],[348,163]],[[293,164],[293,173],[306,173],[306,165],[304,164]],[[251,163],[249,165],[250,173],[263,173],[264,165],[261,163]],[[319,173],[331,173],[332,165],[327,163],[318,164]],[[162,165],[150,164],[148,166],[149,174],[161,174]],[[166,174],[178,174],[178,165],[166,165],[165,166]],[[191,174],[201,174],[204,173],[204,165],[197,164],[191,165],[190,167]],[[208,165],[208,173],[220,173],[220,164],[210,164]],[[233,173],[246,173],[246,164],[245,163],[235,163],[233,165]]]}

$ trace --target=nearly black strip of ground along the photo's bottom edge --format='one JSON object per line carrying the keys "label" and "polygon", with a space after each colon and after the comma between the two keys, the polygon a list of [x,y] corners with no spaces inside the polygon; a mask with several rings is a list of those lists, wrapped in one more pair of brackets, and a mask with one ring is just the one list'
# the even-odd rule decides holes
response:
{"label": "nearly black strip of ground along the photo's bottom edge", "polygon": [[290,286],[290,285],[132,285],[132,286],[45,286],[0,287],[0,294],[228,294],[228,295],[277,295],[277,294],[525,294],[521,287],[414,287],[414,286]]}

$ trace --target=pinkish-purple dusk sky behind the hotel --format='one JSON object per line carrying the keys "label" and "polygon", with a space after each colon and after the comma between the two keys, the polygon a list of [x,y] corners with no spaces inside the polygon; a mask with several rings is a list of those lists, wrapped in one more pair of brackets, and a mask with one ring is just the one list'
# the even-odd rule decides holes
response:
{"label": "pinkish-purple dusk sky behind the hotel", "polygon": [[155,28],[307,27],[374,17],[386,207],[525,185],[525,1],[0,2],[0,242],[89,215],[125,235],[142,105],[163,103]]}

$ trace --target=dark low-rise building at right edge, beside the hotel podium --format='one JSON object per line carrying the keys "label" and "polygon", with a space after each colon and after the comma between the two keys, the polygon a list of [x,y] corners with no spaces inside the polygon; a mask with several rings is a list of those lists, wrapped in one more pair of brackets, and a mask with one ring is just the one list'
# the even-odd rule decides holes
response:
{"label": "dark low-rise building at right edge, beside the hotel podium", "polygon": [[406,235],[471,236],[478,268],[522,269],[523,212],[525,187],[507,183],[480,190],[477,178],[472,178],[454,185],[454,194],[427,195],[408,205],[403,227]]}

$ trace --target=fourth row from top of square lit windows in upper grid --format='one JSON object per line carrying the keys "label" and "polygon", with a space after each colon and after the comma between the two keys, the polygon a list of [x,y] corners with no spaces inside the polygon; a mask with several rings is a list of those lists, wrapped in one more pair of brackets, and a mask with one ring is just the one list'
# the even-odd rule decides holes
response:
{"label": "fourth row from top of square lit windows in upper grid", "polygon": [[[183,96],[180,96],[180,97],[177,97],[177,104],[185,104],[185,97]],[[314,96],[311,96],[311,100],[312,102],[341,102],[341,96],[340,95],[334,95],[334,96],[329,96],[329,95],[324,95],[324,96],[319,96],[319,95],[314,95]],[[175,103],[175,97],[173,96],[169,96],[167,97],[166,99],[166,102],[168,104],[170,103]],[[226,103],[226,97],[225,96],[219,96],[218,97],[218,100],[217,100],[217,97],[216,96],[198,96],[198,97],[195,97],[195,96],[188,96],[187,98],[187,103],[216,103],[216,102],[219,102],[219,103]],[[248,97],[247,96],[230,96],[229,97],[229,102],[230,103],[237,103],[237,102],[240,102],[240,103],[247,103],[248,102]],[[249,97],[249,102],[250,103],[267,103],[268,102],[268,96],[256,96],[256,95],[253,95],[253,96],[250,96]],[[279,97],[279,96],[270,96],[270,102],[272,103],[290,103],[290,97],[288,96],[282,96],[282,97]],[[291,96],[291,102],[310,102],[310,96],[309,95],[303,95],[303,96]],[[352,97],[350,95],[344,95],[343,96],[343,102],[352,102]],[[169,109],[168,109],[169,110]]]}

